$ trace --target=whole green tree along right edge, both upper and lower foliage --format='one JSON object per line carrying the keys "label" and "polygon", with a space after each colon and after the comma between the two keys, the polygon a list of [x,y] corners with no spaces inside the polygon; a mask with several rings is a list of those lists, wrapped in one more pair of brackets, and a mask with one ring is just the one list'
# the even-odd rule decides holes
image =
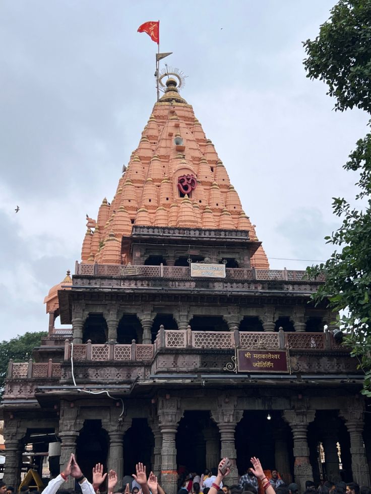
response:
{"label": "whole green tree along right edge, both upper and lower foliage", "polygon": [[[319,36],[303,45],[307,77],[327,84],[327,94],[336,99],[335,110],[357,107],[371,113],[371,0],[340,0]],[[326,282],[314,298],[327,298],[336,313],[345,310],[337,320],[346,332],[345,344],[365,373],[362,393],[371,396],[371,133],[358,140],[343,168],[357,173],[354,203],[359,207],[333,198],[334,214],[342,223],[325,239],[337,250],[308,272],[326,272]]]}

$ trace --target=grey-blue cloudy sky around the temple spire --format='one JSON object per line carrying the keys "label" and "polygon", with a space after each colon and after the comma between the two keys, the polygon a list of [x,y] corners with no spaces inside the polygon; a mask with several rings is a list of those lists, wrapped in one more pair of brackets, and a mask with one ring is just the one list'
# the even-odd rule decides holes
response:
{"label": "grey-blue cloudy sky around the temple spire", "polygon": [[[331,197],[367,115],[332,111],[301,42],[335,0],[3,0],[1,339],[47,329],[43,298],[80,260],[85,215],[110,200],[155,102],[156,44],[257,225],[271,268],[330,253]],[[15,214],[14,208],[20,206]],[[284,259],[282,259],[284,258]],[[304,259],[303,261],[295,259]]]}

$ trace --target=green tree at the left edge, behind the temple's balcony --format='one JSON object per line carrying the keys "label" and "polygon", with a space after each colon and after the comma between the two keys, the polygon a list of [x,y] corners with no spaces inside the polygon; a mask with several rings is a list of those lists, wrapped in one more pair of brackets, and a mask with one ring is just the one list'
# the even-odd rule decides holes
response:
{"label": "green tree at the left edge, behind the temple's balcony", "polygon": [[47,336],[46,331],[37,333],[25,333],[9,341],[0,342],[0,355],[3,356],[0,361],[0,393],[4,392],[4,381],[7,377],[8,363],[10,359],[14,362],[27,362],[32,356],[32,350],[40,346],[41,338]]}

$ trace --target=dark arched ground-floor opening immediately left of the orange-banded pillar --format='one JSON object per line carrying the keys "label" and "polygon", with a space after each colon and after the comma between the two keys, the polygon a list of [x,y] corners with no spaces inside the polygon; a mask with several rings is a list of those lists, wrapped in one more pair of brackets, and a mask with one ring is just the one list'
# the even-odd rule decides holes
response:
{"label": "dark arched ground-floor opening immediately left of the orange-banded pillar", "polygon": [[155,444],[153,433],[147,418],[133,418],[132,426],[123,436],[123,474],[132,475],[138,458],[146,465],[147,472],[152,469],[152,450]]}

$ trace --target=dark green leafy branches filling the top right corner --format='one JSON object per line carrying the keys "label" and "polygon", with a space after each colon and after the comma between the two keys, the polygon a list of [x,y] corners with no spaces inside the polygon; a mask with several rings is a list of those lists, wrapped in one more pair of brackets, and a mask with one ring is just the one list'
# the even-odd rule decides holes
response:
{"label": "dark green leafy branches filling the top right corner", "polygon": [[371,2],[340,0],[314,41],[303,44],[307,77],[329,86],[335,108],[371,112]]}

